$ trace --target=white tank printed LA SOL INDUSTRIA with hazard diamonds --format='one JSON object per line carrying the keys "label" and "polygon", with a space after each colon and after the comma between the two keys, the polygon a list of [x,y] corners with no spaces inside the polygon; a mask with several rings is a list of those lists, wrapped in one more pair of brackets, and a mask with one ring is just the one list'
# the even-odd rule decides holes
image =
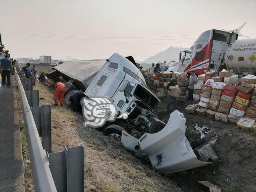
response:
{"label": "white tank printed LA SOL INDUSTRIA with hazard diamonds", "polygon": [[242,75],[256,74],[256,39],[236,40],[226,52],[228,70]]}

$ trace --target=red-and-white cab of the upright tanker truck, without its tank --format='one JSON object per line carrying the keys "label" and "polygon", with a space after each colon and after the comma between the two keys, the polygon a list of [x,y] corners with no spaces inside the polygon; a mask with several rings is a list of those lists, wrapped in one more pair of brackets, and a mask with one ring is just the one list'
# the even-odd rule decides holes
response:
{"label": "red-and-white cab of the upright tanker truck, without its tank", "polygon": [[228,45],[237,40],[237,35],[222,30],[207,30],[192,44],[190,50],[181,51],[179,62],[173,63],[169,72],[204,74],[209,70],[218,70],[225,64]]}

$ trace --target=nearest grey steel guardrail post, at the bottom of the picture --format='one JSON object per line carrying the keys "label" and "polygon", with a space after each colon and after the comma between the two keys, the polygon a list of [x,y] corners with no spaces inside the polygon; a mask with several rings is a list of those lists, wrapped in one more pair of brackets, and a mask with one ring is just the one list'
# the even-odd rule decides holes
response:
{"label": "nearest grey steel guardrail post, at the bottom of the picture", "polygon": [[49,167],[57,191],[84,191],[84,146],[48,154]]}

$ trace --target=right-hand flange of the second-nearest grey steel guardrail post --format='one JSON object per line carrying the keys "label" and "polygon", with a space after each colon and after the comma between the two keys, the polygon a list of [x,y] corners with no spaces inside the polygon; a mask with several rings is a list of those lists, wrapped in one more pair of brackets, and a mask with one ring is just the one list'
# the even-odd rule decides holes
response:
{"label": "right-hand flange of the second-nearest grey steel guardrail post", "polygon": [[51,106],[41,106],[42,145],[45,151],[51,153]]}

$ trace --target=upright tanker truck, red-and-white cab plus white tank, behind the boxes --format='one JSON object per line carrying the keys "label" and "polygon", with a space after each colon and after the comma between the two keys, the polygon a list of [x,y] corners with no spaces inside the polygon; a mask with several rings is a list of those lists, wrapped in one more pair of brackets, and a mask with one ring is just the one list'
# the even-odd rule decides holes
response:
{"label": "upright tanker truck, red-and-white cab plus white tank, behind the boxes", "polygon": [[169,72],[204,74],[209,70],[227,69],[242,75],[256,73],[256,39],[237,40],[237,34],[207,30],[192,44],[190,50],[181,51],[179,61],[169,66]]}

